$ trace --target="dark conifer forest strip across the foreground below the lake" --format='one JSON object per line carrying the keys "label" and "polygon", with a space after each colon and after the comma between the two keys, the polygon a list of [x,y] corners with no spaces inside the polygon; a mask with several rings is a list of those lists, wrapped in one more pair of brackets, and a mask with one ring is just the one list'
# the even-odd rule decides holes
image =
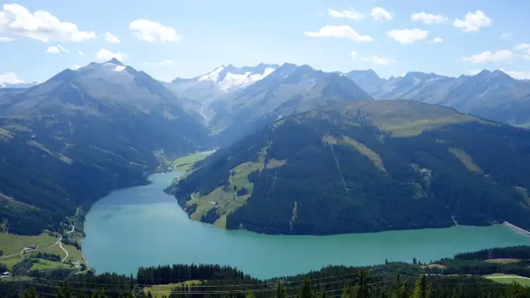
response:
{"label": "dark conifer forest strip across the foreground below the lake", "polygon": [[[385,262],[378,266],[327,266],[310,273],[258,280],[237,268],[173,265],[139,268],[136,277],[114,273],[72,275],[53,270],[38,278],[0,282],[0,296],[11,297],[530,297],[530,287],[482,278],[483,268],[529,277],[530,246],[488,249],[422,263]],[[489,257],[517,259],[492,263]],[[443,268],[447,266],[447,268]],[[440,269],[442,268],[442,269]],[[452,268],[449,270],[449,268]],[[519,269],[518,269],[519,268]],[[526,269],[526,270],[523,270]],[[458,273],[455,273],[458,272]],[[160,285],[165,285],[160,289]],[[168,288],[169,287],[169,288]]]}

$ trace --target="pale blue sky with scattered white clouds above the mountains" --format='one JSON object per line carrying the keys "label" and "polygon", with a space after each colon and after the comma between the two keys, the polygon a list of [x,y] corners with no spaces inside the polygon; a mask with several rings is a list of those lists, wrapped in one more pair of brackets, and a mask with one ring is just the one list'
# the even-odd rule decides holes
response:
{"label": "pale blue sky with scattered white clouds above the mountains", "polygon": [[529,11],[527,0],[0,1],[0,83],[109,56],[163,81],[260,62],[530,78]]}

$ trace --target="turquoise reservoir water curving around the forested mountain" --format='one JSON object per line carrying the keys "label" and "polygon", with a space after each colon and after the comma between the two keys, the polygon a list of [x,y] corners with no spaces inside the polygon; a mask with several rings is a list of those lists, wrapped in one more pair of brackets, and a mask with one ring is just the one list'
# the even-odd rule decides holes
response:
{"label": "turquoise reservoir water curving around the forested mountain", "polygon": [[293,275],[326,265],[367,266],[431,261],[458,252],[530,245],[502,225],[333,236],[264,235],[224,231],[189,220],[163,192],[179,173],[153,174],[151,184],[110,193],[86,217],[83,252],[99,273],[136,275],[139,266],[218,263],[257,278]]}

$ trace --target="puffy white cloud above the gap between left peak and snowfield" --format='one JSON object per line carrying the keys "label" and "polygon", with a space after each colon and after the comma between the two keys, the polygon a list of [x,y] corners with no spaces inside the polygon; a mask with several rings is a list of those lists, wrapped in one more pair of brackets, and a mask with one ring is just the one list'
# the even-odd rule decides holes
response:
{"label": "puffy white cloud above the gap between left peak and snowfield", "polygon": [[133,20],[129,29],[134,31],[134,36],[144,42],[177,42],[180,36],[174,28],[153,22],[152,20]]}

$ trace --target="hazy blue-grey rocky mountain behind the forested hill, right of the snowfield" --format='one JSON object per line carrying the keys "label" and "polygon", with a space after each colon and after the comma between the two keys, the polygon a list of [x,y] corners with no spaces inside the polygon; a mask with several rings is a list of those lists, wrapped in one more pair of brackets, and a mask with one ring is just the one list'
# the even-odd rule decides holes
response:
{"label": "hazy blue-grey rocky mountain behind the forested hill, right of the snowfield", "polygon": [[209,105],[213,117],[208,124],[225,145],[281,117],[371,98],[346,76],[283,64],[266,78]]}

